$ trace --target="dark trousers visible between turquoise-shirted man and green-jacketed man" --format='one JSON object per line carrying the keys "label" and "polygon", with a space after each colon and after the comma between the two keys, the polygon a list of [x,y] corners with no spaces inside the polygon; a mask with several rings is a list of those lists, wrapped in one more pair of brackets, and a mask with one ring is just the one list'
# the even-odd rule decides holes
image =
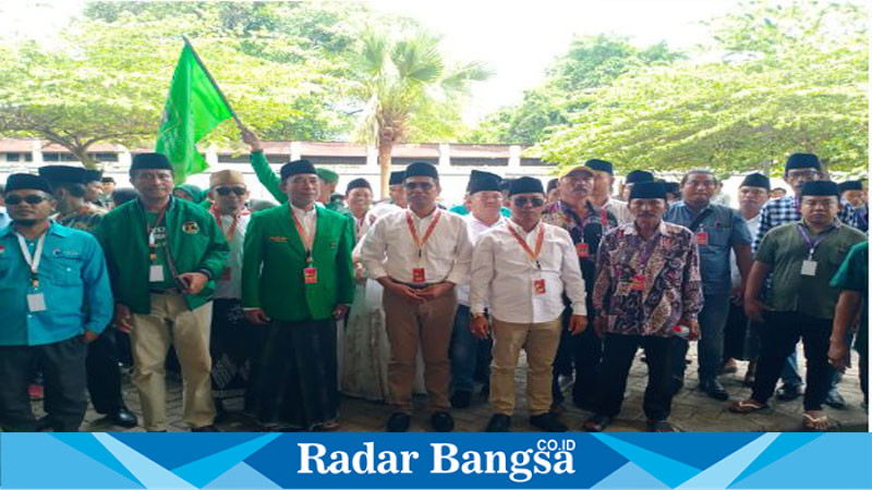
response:
{"label": "dark trousers visible between turquoise-shirted man and green-jacketed man", "polygon": [[88,394],[94,409],[99,414],[111,414],[124,406],[121,397],[121,370],[118,336],[125,335],[113,327],[106,330],[88,344],[85,362],[87,368]]}

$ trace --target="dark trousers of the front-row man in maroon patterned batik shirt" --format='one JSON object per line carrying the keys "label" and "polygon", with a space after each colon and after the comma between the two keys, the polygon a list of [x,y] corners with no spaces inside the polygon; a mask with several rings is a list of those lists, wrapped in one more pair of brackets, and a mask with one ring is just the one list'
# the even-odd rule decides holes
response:
{"label": "dark trousers of the front-row man in maroon patterned batik shirt", "polygon": [[620,413],[627,376],[639,347],[647,357],[647,387],[643,409],[649,420],[665,420],[673,404],[671,363],[673,339],[668,336],[621,335],[609,333],[604,341],[603,364],[600,367],[600,395],[596,413],[614,417]]}

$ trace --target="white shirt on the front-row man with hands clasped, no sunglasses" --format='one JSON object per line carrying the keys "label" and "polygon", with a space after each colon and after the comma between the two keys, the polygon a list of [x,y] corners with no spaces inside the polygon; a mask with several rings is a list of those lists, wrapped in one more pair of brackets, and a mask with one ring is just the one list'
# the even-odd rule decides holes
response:
{"label": "white shirt on the front-row man with hands clasped, no sunglasses", "polygon": [[421,257],[405,221],[407,210],[383,216],[370,228],[361,243],[361,262],[370,278],[377,280],[388,275],[395,281],[412,283],[412,270],[424,268],[424,283],[427,284],[443,281],[462,284],[467,281],[472,244],[463,218],[440,209],[424,218],[419,218],[412,211],[409,213],[419,240],[424,238],[431,222],[439,216],[429,240],[422,248]]}

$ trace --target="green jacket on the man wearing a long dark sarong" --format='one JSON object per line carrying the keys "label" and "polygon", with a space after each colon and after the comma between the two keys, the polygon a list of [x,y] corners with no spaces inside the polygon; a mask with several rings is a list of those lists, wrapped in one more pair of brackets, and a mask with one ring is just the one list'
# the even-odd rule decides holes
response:
{"label": "green jacket on the man wearing a long dark sarong", "polygon": [[354,299],[351,220],[316,207],[312,259],[316,284],[303,282],[305,248],[293,224],[291,207],[282,205],[252,215],[242,256],[242,306],[263,308],[281,321],[323,320],[337,305]]}

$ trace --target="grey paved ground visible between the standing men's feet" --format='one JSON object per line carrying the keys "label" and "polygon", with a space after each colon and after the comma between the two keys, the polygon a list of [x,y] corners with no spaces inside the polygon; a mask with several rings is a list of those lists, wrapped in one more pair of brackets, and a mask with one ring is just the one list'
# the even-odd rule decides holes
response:
{"label": "grey paved ground visible between the standing men's feet", "polygon": [[[695,355],[691,351],[691,356]],[[800,354],[801,358],[801,354]],[[688,432],[748,432],[748,431],[772,431],[772,432],[788,432],[801,430],[802,421],[802,402],[801,399],[792,402],[772,401],[773,411],[771,414],[752,414],[752,415],[736,415],[726,409],[726,403],[712,400],[700,391],[695,390],[695,358],[692,366],[688,368],[688,379],[686,388],[673,401],[673,416],[670,421],[678,430]],[[523,362],[521,363],[523,366]],[[523,377],[525,376],[525,368],[520,367],[518,370],[519,379],[519,401],[518,409],[512,420],[513,431],[532,431],[533,428],[526,422],[526,416],[523,414],[525,400],[523,394]],[[742,377],[744,376],[744,363],[740,363],[739,372],[735,375],[725,375],[722,377],[722,382],[730,393],[731,399],[747,397],[751,390],[742,385]],[[630,372],[628,381],[627,400],[623,403],[623,408],[615,422],[608,428],[609,431],[642,431],[644,430],[644,414],[642,413],[642,395],[644,392],[647,379],[647,369],[643,363],[637,360],[633,363],[633,368]],[[571,388],[567,383],[565,388]],[[848,406],[841,411],[828,408],[828,415],[834,424],[834,430],[839,431],[867,431],[867,411],[861,407],[862,393],[860,392],[860,384],[858,380],[858,371],[855,367],[848,370],[840,384],[840,392]],[[132,411],[141,415],[140,400],[135,389],[126,382],[124,385],[124,396]],[[173,420],[171,431],[186,430],[184,424],[181,421],[181,385],[178,381],[170,381],[169,394],[169,409],[170,417]],[[569,396],[571,400],[571,396]],[[424,399],[419,397],[417,403],[423,406]],[[34,404],[36,412],[41,412],[41,403]],[[238,406],[241,406],[239,404]],[[230,405],[233,408],[234,405]],[[379,403],[372,403],[355,399],[344,399],[342,402],[342,416],[341,428],[343,431],[382,431],[384,424],[389,415],[389,409],[386,405]],[[457,421],[457,431],[475,432],[482,431],[491,417],[491,411],[487,403],[481,396],[476,397],[472,407],[468,409],[456,409],[452,415]],[[567,404],[567,411],[561,419],[567,424],[570,430],[581,430],[581,424],[590,415],[589,412]],[[232,415],[228,420],[219,424],[219,427],[226,431],[252,431],[256,430],[254,422],[242,416],[241,414]],[[125,430],[120,427],[114,427],[93,409],[89,409],[85,422],[82,426],[83,431],[119,431]],[[142,427],[128,429],[130,431],[142,431]],[[412,422],[412,431],[429,430],[428,415],[423,411],[415,414]]]}

